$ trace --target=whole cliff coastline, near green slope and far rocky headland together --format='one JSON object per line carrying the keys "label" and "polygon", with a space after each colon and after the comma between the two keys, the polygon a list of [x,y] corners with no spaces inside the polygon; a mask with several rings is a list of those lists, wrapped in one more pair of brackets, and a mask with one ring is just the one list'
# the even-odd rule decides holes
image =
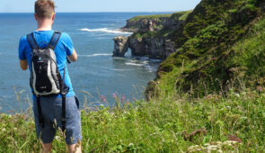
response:
{"label": "whole cliff coastline, near green slope and far rocky headland together", "polygon": [[[263,22],[264,5],[258,0],[203,0],[193,11],[128,20],[122,30],[135,32],[124,38],[128,45],[121,44],[126,46],[122,49],[131,49],[133,56],[165,59],[155,81],[147,85],[146,98],[159,96],[160,88],[166,93],[178,90],[193,96],[227,93],[234,84],[240,84],[238,77],[246,80],[245,86],[264,85],[261,74],[265,68],[261,67],[265,67],[265,57],[261,49],[248,46],[248,40],[263,46],[261,40],[251,39],[261,37],[259,22]],[[207,91],[201,85],[207,86]]]}

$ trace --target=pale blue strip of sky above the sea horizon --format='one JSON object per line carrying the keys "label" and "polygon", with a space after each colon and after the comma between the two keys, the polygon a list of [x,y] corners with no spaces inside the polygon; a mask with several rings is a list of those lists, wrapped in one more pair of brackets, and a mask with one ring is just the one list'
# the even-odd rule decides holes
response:
{"label": "pale blue strip of sky above the sea horizon", "polygon": [[[54,0],[56,12],[176,12],[193,9],[200,0]],[[0,13],[33,13],[35,0],[0,0]]]}

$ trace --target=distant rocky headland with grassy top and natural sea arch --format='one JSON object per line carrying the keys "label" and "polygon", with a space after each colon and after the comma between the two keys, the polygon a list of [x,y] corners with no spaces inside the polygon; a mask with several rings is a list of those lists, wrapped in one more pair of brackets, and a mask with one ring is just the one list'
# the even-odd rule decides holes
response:
{"label": "distant rocky headland with grassy top and natural sea arch", "polygon": [[129,19],[121,30],[134,33],[128,38],[119,36],[113,39],[113,57],[124,57],[128,49],[131,49],[132,56],[167,58],[175,51],[170,33],[185,23],[190,12],[136,16]]}

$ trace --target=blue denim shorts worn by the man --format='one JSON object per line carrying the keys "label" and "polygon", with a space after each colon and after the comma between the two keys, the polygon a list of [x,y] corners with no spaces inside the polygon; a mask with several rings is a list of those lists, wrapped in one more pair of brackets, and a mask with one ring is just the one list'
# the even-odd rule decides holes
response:
{"label": "blue denim shorts worn by the man", "polygon": [[[37,100],[33,101],[37,138],[41,139],[44,144],[51,143],[57,129],[62,129],[62,98],[41,97],[40,105],[44,127],[39,122]],[[79,102],[75,100],[75,96],[66,97],[66,144],[76,144],[78,139],[82,139]]]}

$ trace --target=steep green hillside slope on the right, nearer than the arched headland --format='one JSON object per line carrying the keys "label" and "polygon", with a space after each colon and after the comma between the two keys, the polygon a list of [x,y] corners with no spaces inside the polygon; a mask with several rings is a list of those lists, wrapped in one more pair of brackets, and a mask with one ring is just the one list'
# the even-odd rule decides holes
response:
{"label": "steep green hillside slope on the right, nearer than the arched headland", "polygon": [[202,0],[171,34],[176,52],[166,58],[146,96],[174,92],[203,96],[237,85],[264,84],[264,3]]}

